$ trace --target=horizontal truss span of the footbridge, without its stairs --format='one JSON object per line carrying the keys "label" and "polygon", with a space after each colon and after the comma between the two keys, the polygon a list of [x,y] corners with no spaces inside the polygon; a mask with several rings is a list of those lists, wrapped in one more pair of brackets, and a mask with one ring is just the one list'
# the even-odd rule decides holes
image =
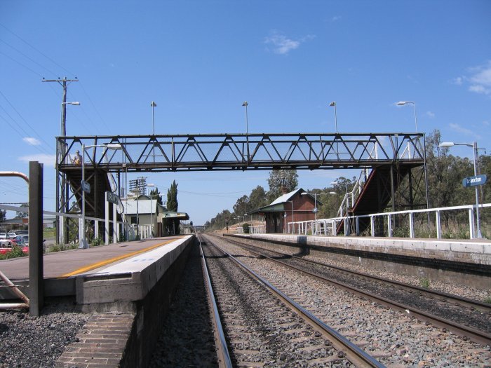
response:
{"label": "horizontal truss span of the footbridge, without its stairs", "polygon": [[[72,171],[76,150],[107,172],[374,168],[424,164],[423,133],[262,133],[57,137],[57,167]],[[121,144],[121,150],[101,148]]]}

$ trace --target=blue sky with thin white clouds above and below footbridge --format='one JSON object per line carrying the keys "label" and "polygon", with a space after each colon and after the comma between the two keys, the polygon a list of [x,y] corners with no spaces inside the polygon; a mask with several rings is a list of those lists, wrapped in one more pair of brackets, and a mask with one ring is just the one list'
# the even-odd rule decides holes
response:
{"label": "blue sky with thin white clouds above and below footbridge", "polygon": [[[413,132],[491,137],[491,1],[0,1],[0,171],[45,163],[55,207],[55,136]],[[467,147],[453,154],[470,156]],[[355,171],[299,171],[304,189]],[[267,189],[268,172],[146,175],[203,224]],[[129,177],[132,179],[132,177]],[[0,178],[0,203],[27,201]]]}

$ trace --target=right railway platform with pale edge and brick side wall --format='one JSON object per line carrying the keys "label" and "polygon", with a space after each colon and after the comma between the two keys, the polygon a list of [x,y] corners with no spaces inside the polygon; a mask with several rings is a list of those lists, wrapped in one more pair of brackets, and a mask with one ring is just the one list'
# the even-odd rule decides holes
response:
{"label": "right railway platform with pale edge and brick side wall", "polygon": [[372,268],[456,282],[480,289],[491,285],[491,240],[224,234],[250,243],[273,244],[292,254],[330,257]]}

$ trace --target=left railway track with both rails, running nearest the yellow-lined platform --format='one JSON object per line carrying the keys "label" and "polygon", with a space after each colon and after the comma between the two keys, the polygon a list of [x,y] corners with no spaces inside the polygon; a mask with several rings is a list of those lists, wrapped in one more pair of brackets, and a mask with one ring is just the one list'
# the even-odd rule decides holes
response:
{"label": "left railway track with both rails, running nearest the yellow-lined platform", "polygon": [[222,367],[384,367],[210,238],[199,240]]}

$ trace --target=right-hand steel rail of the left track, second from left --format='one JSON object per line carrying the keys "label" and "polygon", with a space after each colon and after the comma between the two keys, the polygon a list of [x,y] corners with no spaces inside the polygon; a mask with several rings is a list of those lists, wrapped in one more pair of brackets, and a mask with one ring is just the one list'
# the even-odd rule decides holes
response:
{"label": "right-hand steel rail of the left track, second from left", "polygon": [[283,303],[287,304],[295,310],[306,322],[311,324],[314,328],[318,330],[318,332],[321,332],[324,335],[328,336],[328,339],[331,341],[332,346],[344,353],[344,356],[349,360],[351,363],[355,364],[356,367],[377,367],[377,368],[382,368],[385,367],[384,364],[376,360],[374,357],[366,353],[364,350],[356,346],[355,343],[349,341],[346,337],[344,337],[342,334],[339,334],[335,329],[332,327],[326,325],[323,321],[318,319],[315,315],[307,311],[307,309],[303,308],[300,306],[300,304],[297,304],[297,302],[293,301],[290,299],[286,294],[281,292],[279,289],[271,285],[267,280],[264,280],[260,275],[257,275],[253,270],[248,268],[248,266],[245,266],[241,261],[236,259],[234,256],[229,254],[228,252],[225,252],[222,250],[221,247],[216,245],[215,243],[210,241],[210,244],[216,247],[220,252],[225,254],[231,261],[234,261],[235,264],[240,266],[248,275],[250,275],[253,279],[255,279],[260,285],[263,285],[264,287],[267,287],[278,299],[283,301]]}

